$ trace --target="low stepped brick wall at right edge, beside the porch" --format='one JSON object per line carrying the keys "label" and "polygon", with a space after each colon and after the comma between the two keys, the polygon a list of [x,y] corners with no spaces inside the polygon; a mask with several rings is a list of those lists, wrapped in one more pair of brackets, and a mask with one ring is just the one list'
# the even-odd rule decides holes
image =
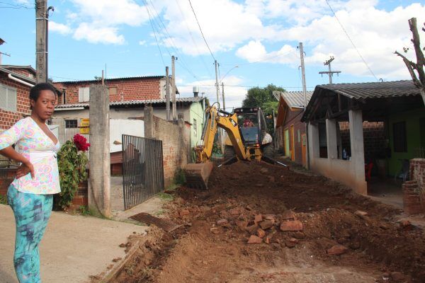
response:
{"label": "low stepped brick wall at right edge, beside the porch", "polygon": [[425,159],[410,161],[410,180],[403,184],[403,207],[407,214],[425,212]]}

